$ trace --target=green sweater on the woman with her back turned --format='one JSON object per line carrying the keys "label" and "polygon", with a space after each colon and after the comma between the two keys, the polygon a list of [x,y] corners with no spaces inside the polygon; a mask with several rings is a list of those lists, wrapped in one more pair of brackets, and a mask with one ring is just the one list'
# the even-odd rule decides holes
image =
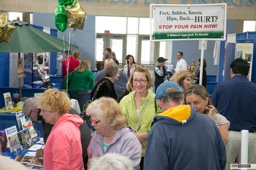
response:
{"label": "green sweater on the woman with her back turned", "polygon": [[[87,91],[93,89],[94,75],[90,70],[84,70],[78,72],[76,70],[65,76],[62,82],[61,89],[67,89],[67,77],[68,77],[68,92],[70,91]],[[90,87],[88,87],[90,85]]]}

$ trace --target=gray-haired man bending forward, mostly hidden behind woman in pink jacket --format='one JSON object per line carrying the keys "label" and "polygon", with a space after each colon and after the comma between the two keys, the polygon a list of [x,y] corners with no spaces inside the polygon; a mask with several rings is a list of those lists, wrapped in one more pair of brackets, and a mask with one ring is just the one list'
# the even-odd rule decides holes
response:
{"label": "gray-haired man bending forward, mostly hidden behind woman in pink jacket", "polygon": [[[23,105],[22,113],[26,115],[26,117],[31,118],[33,121],[41,121],[42,125],[44,127],[44,143],[47,142],[47,138],[49,134],[51,133],[52,127],[54,125],[48,124],[45,122],[44,118],[39,115],[40,108],[38,108],[38,99],[36,97],[31,97],[27,99]],[[70,114],[73,115],[79,115],[76,110],[71,108],[69,111]],[[79,115],[80,116],[80,115]],[[87,168],[87,162],[88,162],[88,155],[87,155],[87,148],[91,140],[91,131],[89,127],[86,125],[86,122],[84,122],[80,127],[79,130],[81,132],[81,143],[82,143],[82,149],[83,149],[83,162],[84,162],[84,169]],[[68,131],[68,127],[67,127]],[[37,151],[38,154],[40,154],[40,151]]]}

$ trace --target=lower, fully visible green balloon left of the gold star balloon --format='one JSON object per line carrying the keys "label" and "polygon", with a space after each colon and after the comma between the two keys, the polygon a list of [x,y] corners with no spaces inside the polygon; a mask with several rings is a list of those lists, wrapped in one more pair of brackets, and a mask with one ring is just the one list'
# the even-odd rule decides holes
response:
{"label": "lower, fully visible green balloon left of the gold star balloon", "polygon": [[67,29],[67,13],[63,5],[59,5],[54,14],[54,23],[58,30],[65,31]]}

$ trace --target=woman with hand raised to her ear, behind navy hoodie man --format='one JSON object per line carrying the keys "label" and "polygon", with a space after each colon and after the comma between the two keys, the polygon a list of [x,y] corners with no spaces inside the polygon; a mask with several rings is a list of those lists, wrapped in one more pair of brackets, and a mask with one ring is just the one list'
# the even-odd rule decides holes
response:
{"label": "woman with hand raised to her ear, behind navy hoodie man", "polygon": [[212,106],[209,93],[202,85],[193,85],[184,90],[186,103],[190,104],[198,113],[203,113],[212,118],[218,126],[221,138],[225,145],[228,143],[228,128],[230,122]]}

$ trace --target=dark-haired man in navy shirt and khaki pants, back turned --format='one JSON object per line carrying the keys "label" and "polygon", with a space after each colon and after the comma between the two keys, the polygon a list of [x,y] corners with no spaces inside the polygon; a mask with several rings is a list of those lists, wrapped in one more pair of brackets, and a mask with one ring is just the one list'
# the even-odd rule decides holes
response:
{"label": "dark-haired man in navy shirt and khaki pants, back turned", "polygon": [[231,78],[218,83],[212,94],[212,104],[230,121],[226,169],[230,169],[230,164],[241,163],[242,130],[249,131],[248,164],[256,162],[256,84],[248,80],[249,71],[248,61],[233,60]]}

